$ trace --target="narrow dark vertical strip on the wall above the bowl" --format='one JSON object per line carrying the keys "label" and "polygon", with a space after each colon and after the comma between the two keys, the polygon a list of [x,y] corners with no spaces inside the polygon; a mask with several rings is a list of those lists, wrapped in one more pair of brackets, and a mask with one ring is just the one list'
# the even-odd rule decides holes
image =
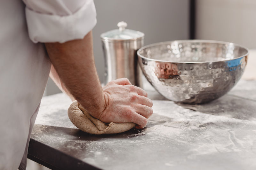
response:
{"label": "narrow dark vertical strip on the wall above the bowl", "polygon": [[189,2],[189,39],[195,39],[196,34],[196,0]]}

